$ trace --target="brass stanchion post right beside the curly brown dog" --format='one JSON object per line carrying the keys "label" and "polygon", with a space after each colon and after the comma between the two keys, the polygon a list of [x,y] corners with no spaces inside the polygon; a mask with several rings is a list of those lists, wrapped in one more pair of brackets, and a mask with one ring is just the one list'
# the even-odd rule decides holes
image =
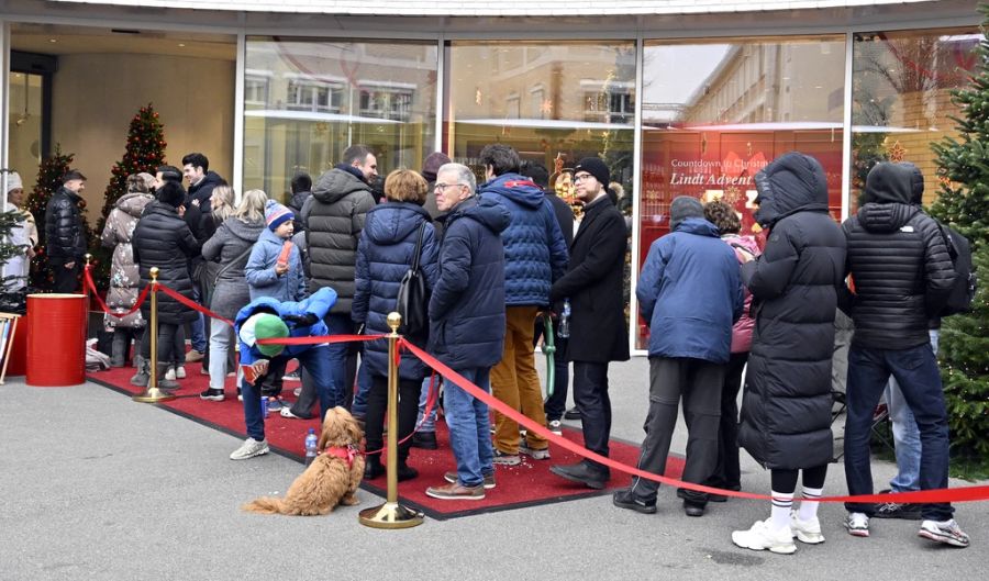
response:
{"label": "brass stanchion post right beside the curly brown dog", "polygon": [[388,496],[385,504],[360,511],[359,521],[373,528],[410,528],[422,524],[421,512],[413,511],[398,502],[398,327],[402,317],[398,313],[388,314]]}

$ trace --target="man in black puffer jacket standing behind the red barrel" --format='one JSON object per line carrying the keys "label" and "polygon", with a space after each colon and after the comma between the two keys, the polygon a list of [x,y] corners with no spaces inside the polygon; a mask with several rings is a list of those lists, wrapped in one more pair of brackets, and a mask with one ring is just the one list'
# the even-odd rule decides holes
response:
{"label": "man in black puffer jacket standing behind the red barrel", "polygon": [[48,268],[55,292],[79,290],[79,271],[86,256],[86,227],[79,194],[86,189],[86,176],[75,169],[66,171],[58,188],[45,209],[45,239],[47,241]]}

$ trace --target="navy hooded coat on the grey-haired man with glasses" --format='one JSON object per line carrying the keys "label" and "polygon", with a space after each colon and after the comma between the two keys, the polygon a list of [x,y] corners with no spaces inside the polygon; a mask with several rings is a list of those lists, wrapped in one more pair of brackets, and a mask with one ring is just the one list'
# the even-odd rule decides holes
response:
{"label": "navy hooded coat on the grey-haired man with glasses", "polygon": [[444,216],[440,278],[430,299],[430,350],[454,369],[491,367],[504,351],[504,249],[509,213],[476,195]]}

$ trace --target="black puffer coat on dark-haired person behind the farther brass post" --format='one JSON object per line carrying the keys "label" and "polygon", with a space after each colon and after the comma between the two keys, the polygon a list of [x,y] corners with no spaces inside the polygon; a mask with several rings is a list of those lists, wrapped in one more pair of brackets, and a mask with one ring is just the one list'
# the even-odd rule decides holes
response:
{"label": "black puffer coat on dark-haired person behind the farther brass post", "polygon": [[[158,201],[144,209],[134,228],[134,261],[141,271],[141,289],[151,282],[152,267],[158,267],[158,282],[192,299],[189,258],[199,254],[199,242],[175,208]],[[141,313],[147,319],[151,301],[144,301]],[[148,319],[149,320],[149,319]],[[170,325],[191,323],[196,312],[158,292],[158,321]]]}

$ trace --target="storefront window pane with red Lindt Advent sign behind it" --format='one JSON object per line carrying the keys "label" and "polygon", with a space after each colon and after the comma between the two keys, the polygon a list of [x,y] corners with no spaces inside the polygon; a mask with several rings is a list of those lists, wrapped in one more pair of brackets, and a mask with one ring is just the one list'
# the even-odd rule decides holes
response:
{"label": "storefront window pane with red Lindt Advent sign behind it", "polygon": [[[829,206],[842,208],[844,36],[649,41],[643,54],[640,265],[669,232],[677,195],[721,199],[753,219],[755,175],[791,150],[827,174]],[[638,348],[648,328],[640,320]]]}

